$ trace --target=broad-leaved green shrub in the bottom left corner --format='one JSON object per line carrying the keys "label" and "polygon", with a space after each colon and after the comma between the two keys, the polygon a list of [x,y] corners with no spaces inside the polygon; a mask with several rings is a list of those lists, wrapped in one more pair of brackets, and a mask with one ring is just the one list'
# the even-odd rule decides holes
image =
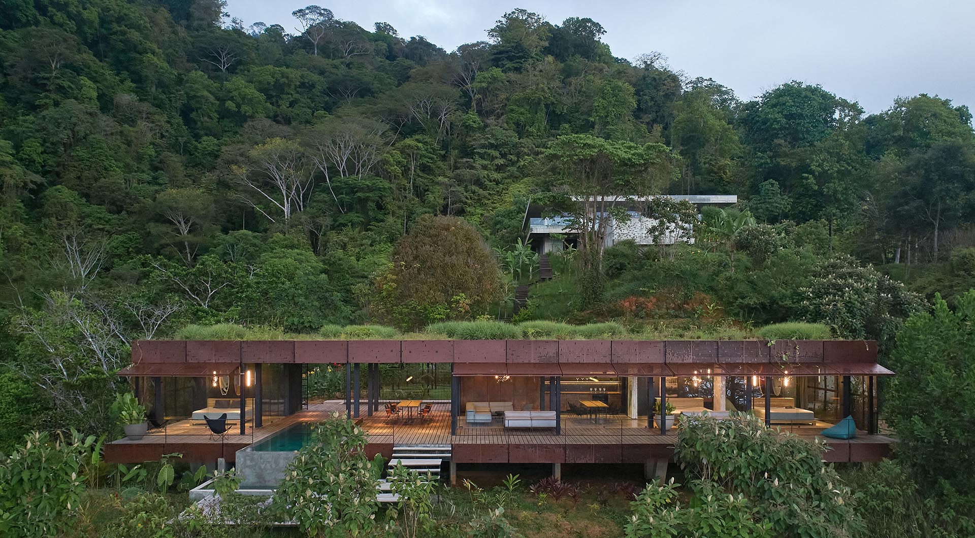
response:
{"label": "broad-leaved green shrub in the bottom left corner", "polygon": [[0,533],[10,538],[58,536],[70,529],[81,508],[86,460],[95,436],[71,431],[55,440],[47,433],[26,436],[0,461]]}

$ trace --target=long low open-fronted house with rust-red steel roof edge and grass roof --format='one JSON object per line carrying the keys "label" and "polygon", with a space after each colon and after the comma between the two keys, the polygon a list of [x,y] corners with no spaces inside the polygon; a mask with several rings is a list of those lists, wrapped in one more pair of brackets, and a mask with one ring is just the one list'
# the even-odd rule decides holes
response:
{"label": "long low open-fronted house with rust-red steel roof edge and grass roof", "polygon": [[[828,461],[876,461],[892,442],[878,435],[876,380],[893,372],[869,340],[143,340],[132,350],[121,375],[165,424],[107,444],[110,462],[292,451],[310,424],[338,411],[361,424],[370,453],[438,449],[451,471],[537,463],[558,475],[562,464],[630,463],[661,473],[677,435],[653,420],[658,401],[678,420],[751,410],[828,442]],[[307,402],[307,374],[321,367],[343,371],[344,401]],[[426,379],[424,391],[401,398],[383,386],[391,374],[408,385]],[[401,399],[398,414],[386,410]],[[223,413],[231,428],[215,437],[203,417]],[[819,437],[849,415],[855,438]]]}

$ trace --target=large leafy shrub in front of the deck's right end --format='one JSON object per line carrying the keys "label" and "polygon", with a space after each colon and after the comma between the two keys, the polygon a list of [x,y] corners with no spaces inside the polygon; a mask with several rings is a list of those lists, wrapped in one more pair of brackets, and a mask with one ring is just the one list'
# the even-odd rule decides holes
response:
{"label": "large leafy shrub in front of the deck's right end", "polygon": [[769,430],[752,414],[730,419],[685,418],[675,457],[684,473],[710,491],[744,495],[774,536],[855,536],[862,521],[855,499],[824,465],[819,440]]}

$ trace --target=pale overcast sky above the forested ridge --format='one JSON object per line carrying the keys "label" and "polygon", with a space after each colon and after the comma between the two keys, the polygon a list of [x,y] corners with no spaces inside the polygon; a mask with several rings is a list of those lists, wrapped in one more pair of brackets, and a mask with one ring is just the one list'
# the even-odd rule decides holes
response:
{"label": "pale overcast sky above the forested ridge", "polygon": [[[229,0],[231,17],[296,25],[292,11],[316,0]],[[487,28],[522,7],[553,23],[603,24],[613,55],[659,51],[674,69],[732,88],[743,99],[800,80],[856,100],[867,112],[920,93],[975,108],[975,2],[970,0],[575,0],[508,2],[359,0],[329,3],[338,19],[422,35],[448,52],[486,40]]]}

